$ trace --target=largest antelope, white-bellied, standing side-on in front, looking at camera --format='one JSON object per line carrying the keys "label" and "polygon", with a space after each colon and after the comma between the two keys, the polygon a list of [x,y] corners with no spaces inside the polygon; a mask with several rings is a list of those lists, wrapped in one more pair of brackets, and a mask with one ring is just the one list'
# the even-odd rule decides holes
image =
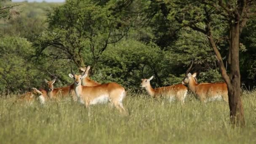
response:
{"label": "largest antelope, white-bellied, standing side-on in front, looking at camera", "polygon": [[121,85],[117,83],[105,83],[93,87],[81,85],[81,80],[88,76],[89,69],[90,66],[87,67],[82,75],[75,75],[71,68],[71,74],[69,74],[69,77],[74,79],[74,89],[80,103],[85,104],[85,107],[90,109],[90,105],[110,102],[120,113],[128,115],[123,107],[123,99],[126,96],[126,92]]}

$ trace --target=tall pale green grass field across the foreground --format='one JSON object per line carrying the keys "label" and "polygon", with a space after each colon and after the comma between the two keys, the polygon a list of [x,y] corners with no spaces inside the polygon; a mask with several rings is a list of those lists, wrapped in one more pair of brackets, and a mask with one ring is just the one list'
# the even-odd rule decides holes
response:
{"label": "tall pale green grass field across the foreground", "polygon": [[185,105],[131,94],[120,116],[109,105],[91,107],[91,116],[70,99],[41,106],[0,98],[0,144],[8,143],[256,143],[256,91],[243,93],[246,127],[231,128],[228,104],[200,103],[192,95]]}

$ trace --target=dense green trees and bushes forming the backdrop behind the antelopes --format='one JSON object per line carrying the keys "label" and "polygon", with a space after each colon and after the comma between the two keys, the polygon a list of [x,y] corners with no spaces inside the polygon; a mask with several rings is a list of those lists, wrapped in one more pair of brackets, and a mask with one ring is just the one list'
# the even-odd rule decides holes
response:
{"label": "dense green trees and bushes forming the backdrop behind the antelopes", "polygon": [[[9,3],[20,15],[0,11],[0,93],[42,87],[43,79],[57,76],[56,86],[72,83],[70,67],[91,65],[92,79],[115,81],[139,88],[141,78],[154,75],[152,85],[181,83],[192,59],[199,82],[223,81],[205,35],[177,21],[176,0],[67,0],[66,3]],[[20,5],[21,4],[21,5]],[[187,11],[200,13],[201,8]],[[10,19],[9,19],[10,18]],[[186,17],[187,18],[187,17]],[[203,19],[202,15],[196,17]],[[213,16],[216,43],[224,61],[227,24]],[[188,21],[189,20],[189,21]],[[256,17],[240,37],[243,86],[256,85]],[[195,21],[197,22],[197,21]],[[197,27],[204,27],[197,22]],[[227,69],[229,70],[229,68]]]}

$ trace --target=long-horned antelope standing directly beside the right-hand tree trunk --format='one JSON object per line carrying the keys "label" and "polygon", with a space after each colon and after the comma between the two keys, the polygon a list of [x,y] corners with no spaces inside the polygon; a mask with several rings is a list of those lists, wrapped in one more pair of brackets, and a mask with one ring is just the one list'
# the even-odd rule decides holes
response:
{"label": "long-horned antelope standing directly beside the right-hand tree trunk", "polygon": [[[193,64],[193,62],[192,62]],[[194,73],[188,73],[189,70],[186,72],[186,77],[182,81],[183,84],[189,85],[189,90],[195,93],[195,95],[200,99],[202,102],[208,101],[215,101],[215,100],[224,100],[228,101],[228,94],[227,94],[227,84],[226,83],[197,83],[196,75]]]}

